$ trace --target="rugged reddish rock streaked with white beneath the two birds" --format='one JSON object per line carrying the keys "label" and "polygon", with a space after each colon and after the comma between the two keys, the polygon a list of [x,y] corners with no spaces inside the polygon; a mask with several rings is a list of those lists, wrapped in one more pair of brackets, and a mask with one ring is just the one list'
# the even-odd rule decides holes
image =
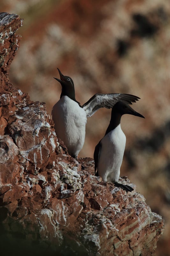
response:
{"label": "rugged reddish rock streaked with white beneath the two birds", "polygon": [[[9,83],[22,20],[0,14],[0,243],[11,255],[155,255],[163,220],[142,195],[93,176],[57,140],[45,103]],[[127,177],[122,183],[129,184]],[[56,254],[59,253],[59,254]],[[5,255],[5,254],[3,254]]]}

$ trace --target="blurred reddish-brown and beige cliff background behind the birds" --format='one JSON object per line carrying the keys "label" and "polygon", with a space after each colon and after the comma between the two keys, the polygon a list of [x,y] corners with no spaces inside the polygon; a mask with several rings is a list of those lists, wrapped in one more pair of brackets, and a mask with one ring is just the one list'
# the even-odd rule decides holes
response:
{"label": "blurred reddish-brown and beige cliff background behind the birds", "polygon": [[[20,49],[11,82],[51,108],[60,98],[57,67],[71,76],[76,99],[95,93],[137,95],[145,116],[122,117],[126,151],[121,175],[165,219],[157,255],[170,255],[170,4],[168,0],[1,0],[1,12],[20,15]],[[92,157],[111,110],[88,118],[80,157]]]}

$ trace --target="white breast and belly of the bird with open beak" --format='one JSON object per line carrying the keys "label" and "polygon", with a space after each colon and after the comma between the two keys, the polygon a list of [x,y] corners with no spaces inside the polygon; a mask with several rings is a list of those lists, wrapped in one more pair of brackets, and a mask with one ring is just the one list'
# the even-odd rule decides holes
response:
{"label": "white breast and belly of the bird with open beak", "polygon": [[68,96],[62,96],[52,109],[52,119],[57,137],[63,140],[71,156],[78,156],[85,141],[85,110]]}

